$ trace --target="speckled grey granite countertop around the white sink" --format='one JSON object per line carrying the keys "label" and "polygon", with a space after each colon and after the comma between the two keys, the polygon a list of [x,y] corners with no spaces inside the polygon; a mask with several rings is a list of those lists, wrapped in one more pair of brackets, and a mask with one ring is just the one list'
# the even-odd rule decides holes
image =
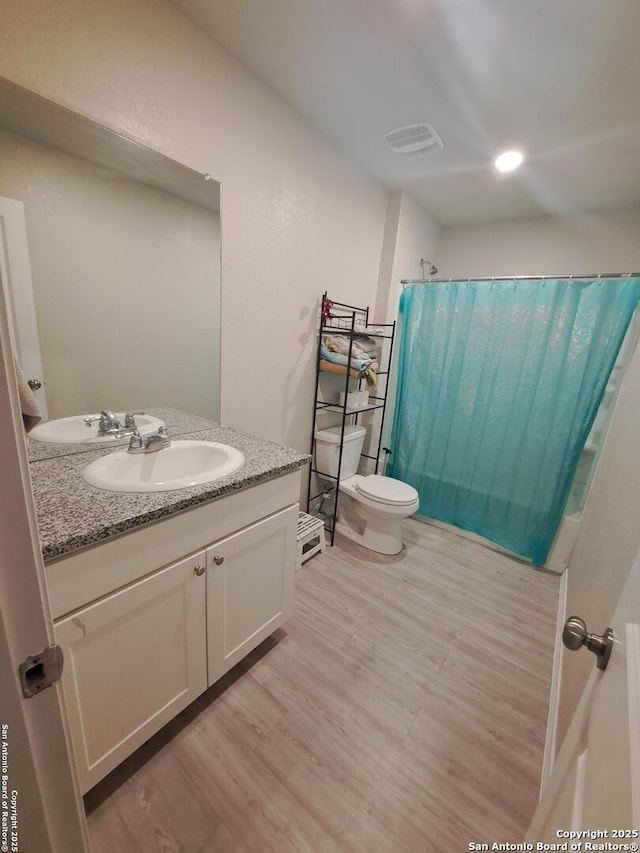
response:
{"label": "speckled grey granite countertop around the white sink", "polygon": [[[155,411],[160,410],[149,410]],[[113,452],[113,447],[88,450],[85,445],[83,452],[32,460],[29,467],[45,562],[295,471],[309,461],[308,454],[298,450],[198,420],[208,428],[184,433],[180,438],[229,444],[245,457],[244,464],[236,471],[200,486],[134,494],[107,492],[85,483],[84,468],[94,459]]]}

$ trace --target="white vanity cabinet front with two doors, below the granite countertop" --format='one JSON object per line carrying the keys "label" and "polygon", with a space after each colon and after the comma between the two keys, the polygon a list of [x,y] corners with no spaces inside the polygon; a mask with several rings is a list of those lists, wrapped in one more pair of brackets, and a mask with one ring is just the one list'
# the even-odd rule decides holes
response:
{"label": "white vanity cabinet front with two doors, below the granite countertop", "polygon": [[291,614],[299,488],[296,470],[46,567],[83,793]]}

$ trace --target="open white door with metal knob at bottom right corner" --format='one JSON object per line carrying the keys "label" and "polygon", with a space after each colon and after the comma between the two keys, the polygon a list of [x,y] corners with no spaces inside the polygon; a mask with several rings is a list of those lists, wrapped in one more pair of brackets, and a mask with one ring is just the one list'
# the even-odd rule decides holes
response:
{"label": "open white door with metal knob at bottom right corner", "polygon": [[[599,633],[606,626],[588,626]],[[591,673],[527,834],[532,843],[561,843],[558,833],[600,830],[597,839],[635,845],[640,830],[640,553],[611,627],[616,642],[604,672]],[[591,654],[580,649],[575,654]],[[574,835],[574,843],[594,841]],[[553,848],[551,848],[553,849]],[[561,849],[561,848],[560,848]],[[577,849],[577,848],[574,848]],[[585,849],[584,846],[581,849]],[[594,848],[596,849],[596,848]],[[605,849],[605,848],[602,848]]]}

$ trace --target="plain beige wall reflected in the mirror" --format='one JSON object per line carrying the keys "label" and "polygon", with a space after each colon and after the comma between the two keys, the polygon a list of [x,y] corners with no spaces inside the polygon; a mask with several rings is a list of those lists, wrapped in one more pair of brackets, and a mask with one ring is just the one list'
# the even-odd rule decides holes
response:
{"label": "plain beige wall reflected in the mirror", "polygon": [[219,215],[3,131],[0,194],[25,206],[49,417],[217,420]]}

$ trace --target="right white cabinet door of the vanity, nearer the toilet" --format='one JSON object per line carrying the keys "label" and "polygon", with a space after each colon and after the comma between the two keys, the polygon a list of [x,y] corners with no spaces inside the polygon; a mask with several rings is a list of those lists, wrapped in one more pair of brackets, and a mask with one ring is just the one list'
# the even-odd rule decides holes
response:
{"label": "right white cabinet door of the vanity, nearer the toilet", "polygon": [[213,684],[291,615],[298,506],[207,549],[207,644]]}

